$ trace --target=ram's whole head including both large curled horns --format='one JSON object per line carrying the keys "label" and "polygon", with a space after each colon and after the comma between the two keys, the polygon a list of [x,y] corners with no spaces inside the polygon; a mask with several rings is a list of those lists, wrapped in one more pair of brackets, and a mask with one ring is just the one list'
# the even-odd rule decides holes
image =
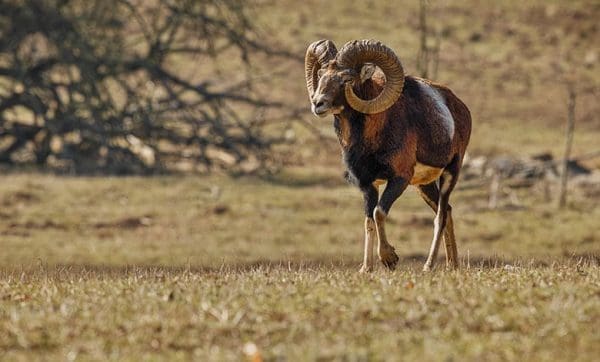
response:
{"label": "ram's whole head including both large curled horns", "polygon": [[[360,99],[352,87],[369,79],[376,66],[385,74],[385,86],[374,99]],[[316,41],[306,50],[304,69],[312,112],[319,117],[339,113],[346,104],[361,113],[383,112],[398,100],[404,85],[400,60],[375,40],[354,40],[339,52],[330,40]]]}

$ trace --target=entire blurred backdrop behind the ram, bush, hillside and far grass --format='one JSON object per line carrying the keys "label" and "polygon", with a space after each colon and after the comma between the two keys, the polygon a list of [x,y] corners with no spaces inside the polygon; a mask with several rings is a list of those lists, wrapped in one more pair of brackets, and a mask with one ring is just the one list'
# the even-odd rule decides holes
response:
{"label": "entire blurred backdrop behind the ram, bush, hillside and far grass", "polygon": [[[469,106],[461,255],[597,257],[599,18],[594,0],[3,0],[0,262],[358,265],[361,196],[304,81],[322,38],[378,39]],[[409,191],[391,217],[422,258],[429,209]]]}

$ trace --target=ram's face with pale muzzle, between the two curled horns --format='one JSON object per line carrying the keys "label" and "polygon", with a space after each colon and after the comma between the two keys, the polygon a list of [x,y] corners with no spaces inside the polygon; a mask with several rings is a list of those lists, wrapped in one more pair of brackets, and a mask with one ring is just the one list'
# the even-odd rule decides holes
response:
{"label": "ram's face with pale muzzle, between the two curled horns", "polygon": [[355,79],[351,69],[339,69],[335,61],[330,62],[318,71],[319,83],[312,101],[312,112],[325,117],[338,114],[344,109],[344,85]]}

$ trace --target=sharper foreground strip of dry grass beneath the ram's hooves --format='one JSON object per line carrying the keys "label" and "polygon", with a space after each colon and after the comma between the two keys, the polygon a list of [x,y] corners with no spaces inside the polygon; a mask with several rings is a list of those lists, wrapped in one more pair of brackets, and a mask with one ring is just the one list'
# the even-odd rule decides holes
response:
{"label": "sharper foreground strip of dry grass beneath the ram's hooves", "polygon": [[[597,260],[423,274],[344,265],[3,272],[4,359],[593,360]],[[247,348],[247,347],[246,347]],[[254,356],[256,357],[256,356]]]}

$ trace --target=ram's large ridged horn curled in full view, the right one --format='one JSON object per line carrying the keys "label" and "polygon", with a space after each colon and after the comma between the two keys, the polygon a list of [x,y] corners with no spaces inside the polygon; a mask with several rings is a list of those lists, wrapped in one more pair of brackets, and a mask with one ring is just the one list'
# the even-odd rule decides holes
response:
{"label": "ram's large ridged horn curled in full view, the right one", "polygon": [[360,71],[364,63],[377,65],[385,74],[386,83],[381,93],[371,100],[360,99],[346,83],[346,100],[355,110],[373,114],[391,107],[402,94],[404,69],[394,51],[376,40],[354,40],[346,43],[337,55],[341,67]]}

